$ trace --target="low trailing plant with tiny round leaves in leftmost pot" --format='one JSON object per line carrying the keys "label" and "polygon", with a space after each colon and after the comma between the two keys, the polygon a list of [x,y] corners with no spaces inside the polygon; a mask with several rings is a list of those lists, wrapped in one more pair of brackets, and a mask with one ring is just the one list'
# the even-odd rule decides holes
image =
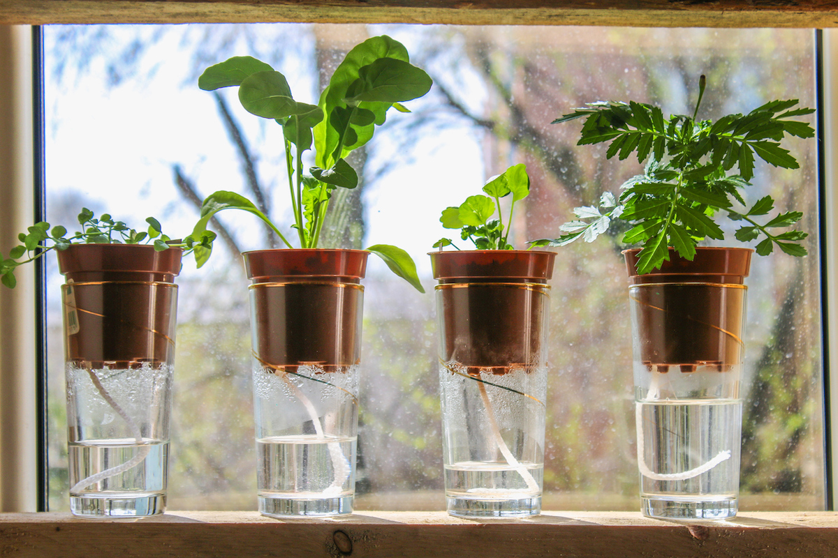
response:
{"label": "low trailing plant with tiny round leaves in leftmost pot", "polygon": [[[215,233],[205,231],[199,237],[199,242],[194,242],[194,237],[187,237],[184,240],[172,240],[163,234],[160,222],[149,217],[146,219],[148,228],[145,231],[137,231],[130,228],[122,221],[115,221],[111,215],[105,213],[96,218],[94,213],[83,207],[79,213],[80,231],[67,236],[67,228],[57,225],[50,228],[49,223],[35,223],[28,228],[28,233],[18,234],[21,242],[12,248],[8,258],[3,258],[0,253],[0,281],[10,289],[14,289],[17,279],[14,277],[14,270],[18,265],[28,264],[44,256],[49,250],[66,250],[71,244],[147,244],[153,243],[154,249],[163,251],[168,248],[184,248],[186,253],[201,246],[211,245],[215,239]],[[51,243],[51,244],[50,244]]]}

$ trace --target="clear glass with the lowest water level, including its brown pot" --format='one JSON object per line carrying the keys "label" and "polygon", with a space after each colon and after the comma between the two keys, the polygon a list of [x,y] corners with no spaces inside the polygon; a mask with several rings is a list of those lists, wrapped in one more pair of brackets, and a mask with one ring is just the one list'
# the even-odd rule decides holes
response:
{"label": "clear glass with the lowest water level, including its brown pot", "polygon": [[[553,253],[432,253],[449,514],[541,513]],[[538,271],[535,271],[538,269]]]}

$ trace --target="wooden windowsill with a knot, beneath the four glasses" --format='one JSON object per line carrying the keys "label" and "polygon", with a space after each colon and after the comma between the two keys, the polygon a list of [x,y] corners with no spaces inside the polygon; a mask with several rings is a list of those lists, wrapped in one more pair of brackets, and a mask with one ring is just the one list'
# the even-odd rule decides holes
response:
{"label": "wooden windowsill with a knot, beneath the four glasses", "polygon": [[729,521],[689,523],[630,512],[545,512],[528,520],[492,521],[459,520],[444,512],[286,521],[256,512],[173,511],[142,520],[0,514],[0,555],[820,558],[838,555],[838,512],[747,513]]}

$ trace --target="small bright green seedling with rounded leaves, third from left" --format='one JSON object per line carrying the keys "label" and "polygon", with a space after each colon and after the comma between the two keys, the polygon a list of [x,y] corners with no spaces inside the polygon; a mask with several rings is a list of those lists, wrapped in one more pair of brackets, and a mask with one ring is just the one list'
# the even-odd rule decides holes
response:
{"label": "small bright green seedling with rounded leaves, third from left", "polygon": [[[446,207],[442,210],[440,223],[445,228],[459,228],[460,238],[471,240],[478,250],[513,250],[509,243],[512,212],[515,202],[524,199],[530,193],[530,177],[522,163],[510,166],[503,174],[486,182],[483,191],[489,196],[478,194],[469,196],[459,207]],[[500,212],[500,198],[512,195],[510,216],[504,225],[504,216]],[[497,209],[498,218],[490,218]],[[434,248],[442,249],[454,245],[450,238],[440,238]],[[457,248],[460,249],[460,248]]]}

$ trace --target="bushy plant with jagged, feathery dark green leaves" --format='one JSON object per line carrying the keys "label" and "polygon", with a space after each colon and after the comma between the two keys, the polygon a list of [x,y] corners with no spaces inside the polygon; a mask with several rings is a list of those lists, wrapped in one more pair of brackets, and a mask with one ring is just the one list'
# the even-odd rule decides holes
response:
{"label": "bushy plant with jagged, feathery dark green leaves", "polygon": [[[783,252],[804,256],[799,241],[807,234],[798,230],[772,233],[797,223],[801,212],[782,212],[766,223],[755,218],[773,211],[774,201],[765,196],[747,207],[741,191],[753,178],[754,156],[773,166],[796,169],[799,164],[780,146],[786,134],[809,138],[812,127],[796,116],[813,109],[794,108],[798,100],[773,100],[747,115],[725,115],[715,122],[697,120],[705,76],[699,80],[699,93],[693,115],[664,118],[659,107],[629,101],[590,103],[586,108],[563,115],[553,124],[585,118],[577,145],[610,142],[606,156],[621,160],[636,154],[639,162],[649,158],[644,173],[623,183],[615,197],[603,193],[599,207],[577,207],[576,220],[561,226],[561,237],[535,241],[536,246],[562,246],[577,238],[592,242],[608,230],[614,219],[631,227],[623,242],[643,246],[638,270],[648,273],[669,259],[669,247],[685,259],[693,259],[696,245],[704,238],[721,240],[722,228],[716,223],[719,212],[745,224],[736,238],[749,242],[764,235],[756,246],[768,255],[776,244]],[[736,172],[738,171],[738,172]],[[738,204],[740,208],[734,209]]]}

